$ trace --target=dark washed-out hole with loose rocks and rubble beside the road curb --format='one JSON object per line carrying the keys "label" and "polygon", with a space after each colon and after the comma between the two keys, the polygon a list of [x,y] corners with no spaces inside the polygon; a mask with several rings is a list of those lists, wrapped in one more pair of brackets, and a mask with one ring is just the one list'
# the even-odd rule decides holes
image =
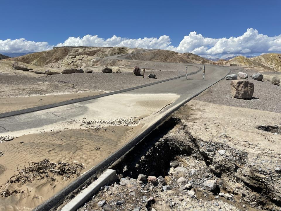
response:
{"label": "dark washed-out hole with loose rocks and rubble beside the road curb", "polygon": [[247,160],[247,152],[195,139],[171,118],[116,161],[119,181],[79,210],[102,210],[101,200],[104,210],[280,210],[281,174]]}

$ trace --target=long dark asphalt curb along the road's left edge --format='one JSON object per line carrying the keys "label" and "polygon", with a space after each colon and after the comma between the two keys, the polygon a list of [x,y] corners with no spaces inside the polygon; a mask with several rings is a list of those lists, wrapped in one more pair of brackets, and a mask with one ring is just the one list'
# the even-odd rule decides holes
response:
{"label": "long dark asphalt curb along the road's left edge", "polygon": [[[190,65],[190,66],[193,66],[193,65]],[[193,67],[196,67],[196,66],[193,66]],[[191,72],[188,75],[196,74],[196,73],[200,72],[201,69],[202,69],[201,67],[198,67],[197,71]],[[22,109],[22,110],[16,110],[16,111],[0,113],[0,119],[1,118],[6,118],[6,117],[11,117],[11,116],[16,116],[16,115],[20,115],[20,114],[30,113],[30,112],[34,112],[34,111],[44,110],[44,109],[48,109],[48,108],[55,108],[55,107],[58,107],[58,106],[64,106],[64,105],[68,105],[68,104],[71,104],[71,103],[78,103],[78,102],[82,102],[82,101],[92,100],[92,99],[101,98],[101,97],[105,97],[105,96],[109,96],[109,95],[114,95],[114,94],[118,94],[118,93],[123,93],[123,92],[131,91],[131,90],[134,90],[134,89],[140,89],[140,88],[143,88],[143,87],[146,87],[146,86],[151,86],[151,85],[154,85],[154,84],[159,84],[159,83],[162,83],[162,82],[165,82],[165,81],[170,81],[170,80],[178,79],[178,78],[181,78],[181,77],[184,77],[184,76],[185,75],[180,75],[180,76],[176,76],[176,77],[165,79],[165,80],[161,80],[161,81],[156,81],[156,82],[153,82],[153,83],[143,84],[143,85],[135,86],[135,87],[128,88],[128,89],[121,89],[121,90],[118,90],[118,91],[112,91],[112,92],[108,92],[108,93],[103,93],[103,94],[100,94],[100,95],[83,97],[83,98],[77,98],[77,99],[72,99],[72,100],[68,100],[68,101],[62,101],[62,102],[59,102],[59,103],[53,103],[53,104],[49,104],[49,105],[44,105],[44,106],[36,106],[36,107],[33,107],[33,108],[26,108],[26,109]]]}

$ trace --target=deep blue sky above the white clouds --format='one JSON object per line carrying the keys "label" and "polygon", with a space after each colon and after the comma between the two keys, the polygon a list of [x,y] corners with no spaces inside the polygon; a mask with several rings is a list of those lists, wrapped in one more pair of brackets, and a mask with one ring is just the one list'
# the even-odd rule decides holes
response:
{"label": "deep blue sky above the white clouds", "polygon": [[[281,34],[280,0],[30,0],[3,1],[1,8],[0,41],[24,38],[47,42],[48,46],[64,43],[69,37],[83,38],[85,35],[98,35],[105,40],[113,35],[129,39],[166,35],[169,36],[167,45],[177,47],[190,32],[213,39],[239,37],[248,28],[269,37]],[[3,45],[7,42],[0,44],[0,52],[19,50]],[[264,53],[263,50],[258,53]]]}

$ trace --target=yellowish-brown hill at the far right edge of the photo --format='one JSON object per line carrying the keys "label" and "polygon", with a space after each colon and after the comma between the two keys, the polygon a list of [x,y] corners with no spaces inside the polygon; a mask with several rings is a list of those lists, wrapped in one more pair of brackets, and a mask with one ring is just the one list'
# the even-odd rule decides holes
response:
{"label": "yellowish-brown hill at the far right edge of the photo", "polygon": [[281,54],[269,53],[253,57],[251,59],[270,68],[274,68],[278,72],[281,72]]}

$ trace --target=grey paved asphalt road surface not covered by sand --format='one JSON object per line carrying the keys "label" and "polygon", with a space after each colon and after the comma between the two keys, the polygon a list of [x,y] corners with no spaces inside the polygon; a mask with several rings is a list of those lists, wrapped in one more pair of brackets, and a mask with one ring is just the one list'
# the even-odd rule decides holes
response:
{"label": "grey paved asphalt road surface not covered by sand", "polygon": [[[136,52],[138,53],[138,52]],[[125,59],[124,55],[111,56],[112,59]],[[155,62],[154,62],[155,63]],[[163,63],[159,62],[162,66]],[[165,64],[165,63],[164,63]],[[170,63],[171,64],[171,63]],[[179,64],[175,64],[179,65]],[[184,66],[189,64],[181,64]],[[193,66],[202,67],[201,64],[192,64]],[[203,70],[188,76],[188,80],[185,77],[178,79],[165,81],[159,84],[127,91],[128,94],[157,94],[157,93],[174,93],[180,95],[180,97],[171,105],[165,107],[159,114],[164,114],[172,109],[175,105],[186,101],[193,97],[200,91],[205,90],[216,81],[222,79],[229,73],[229,68],[220,67],[215,65],[206,65],[205,81],[202,80]],[[102,97],[105,98],[105,97]],[[102,98],[98,98],[101,100]],[[90,105],[95,103],[98,99],[92,99],[88,101],[73,103],[65,106],[59,106],[56,108],[49,108],[41,111],[35,111],[32,113],[26,113],[0,119],[0,136],[4,133],[12,134],[13,132],[20,130],[30,130],[57,123],[64,122],[70,119],[77,119],[81,116],[87,116],[90,118],[96,118],[95,113],[91,112]],[[126,112],[126,111],[125,111]]]}

